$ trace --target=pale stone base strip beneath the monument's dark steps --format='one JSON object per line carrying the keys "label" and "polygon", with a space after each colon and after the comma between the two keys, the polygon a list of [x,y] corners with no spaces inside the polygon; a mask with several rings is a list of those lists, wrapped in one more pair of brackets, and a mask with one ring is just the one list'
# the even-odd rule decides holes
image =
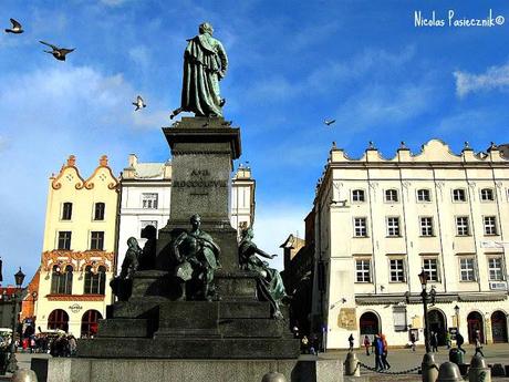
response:
{"label": "pale stone base strip beneath the monument's dark steps", "polygon": [[39,382],[260,382],[277,371],[288,382],[343,382],[341,360],[32,359]]}

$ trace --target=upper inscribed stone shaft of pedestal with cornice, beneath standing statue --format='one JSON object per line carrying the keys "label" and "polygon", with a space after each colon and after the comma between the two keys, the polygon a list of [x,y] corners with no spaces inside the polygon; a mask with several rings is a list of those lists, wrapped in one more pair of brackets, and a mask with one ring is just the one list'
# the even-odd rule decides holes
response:
{"label": "upper inscribed stone shaft of pedestal with cornice, beneath standing statue", "polygon": [[237,231],[230,225],[229,200],[233,159],[240,156],[240,130],[224,118],[184,117],[163,133],[172,152],[172,205],[159,230],[157,268],[168,269],[168,245],[189,228],[193,214],[221,248],[225,271],[238,270]]}

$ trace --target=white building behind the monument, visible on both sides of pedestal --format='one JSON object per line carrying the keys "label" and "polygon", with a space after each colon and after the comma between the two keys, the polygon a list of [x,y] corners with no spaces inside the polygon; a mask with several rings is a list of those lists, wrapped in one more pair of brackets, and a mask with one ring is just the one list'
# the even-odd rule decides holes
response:
{"label": "white building behind the monument, visible on both sides of pedestal", "polygon": [[[231,182],[230,221],[236,229],[249,227],[254,220],[254,187],[249,167],[239,166]],[[121,202],[118,208],[117,272],[127,250],[127,239],[135,237],[139,246],[142,229],[166,226],[172,197],[172,164],[141,163],[131,154],[128,166],[121,175]]]}

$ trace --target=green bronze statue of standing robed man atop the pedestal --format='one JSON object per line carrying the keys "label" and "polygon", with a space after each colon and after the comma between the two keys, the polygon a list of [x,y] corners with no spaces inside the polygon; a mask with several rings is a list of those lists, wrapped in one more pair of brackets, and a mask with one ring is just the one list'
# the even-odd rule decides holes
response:
{"label": "green bronze statue of standing robed man atop the pedestal", "polygon": [[181,104],[172,113],[172,118],[180,112],[222,116],[225,99],[219,92],[219,81],[228,69],[228,56],[221,42],[212,38],[212,25],[204,22],[199,25],[199,34],[187,40]]}

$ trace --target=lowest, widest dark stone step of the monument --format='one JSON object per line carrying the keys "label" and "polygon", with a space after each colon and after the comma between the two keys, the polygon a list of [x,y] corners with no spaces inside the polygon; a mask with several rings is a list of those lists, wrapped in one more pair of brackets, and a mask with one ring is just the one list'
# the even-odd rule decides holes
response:
{"label": "lowest, widest dark stone step of the monument", "polygon": [[101,338],[81,339],[79,358],[127,359],[297,359],[297,339]]}

